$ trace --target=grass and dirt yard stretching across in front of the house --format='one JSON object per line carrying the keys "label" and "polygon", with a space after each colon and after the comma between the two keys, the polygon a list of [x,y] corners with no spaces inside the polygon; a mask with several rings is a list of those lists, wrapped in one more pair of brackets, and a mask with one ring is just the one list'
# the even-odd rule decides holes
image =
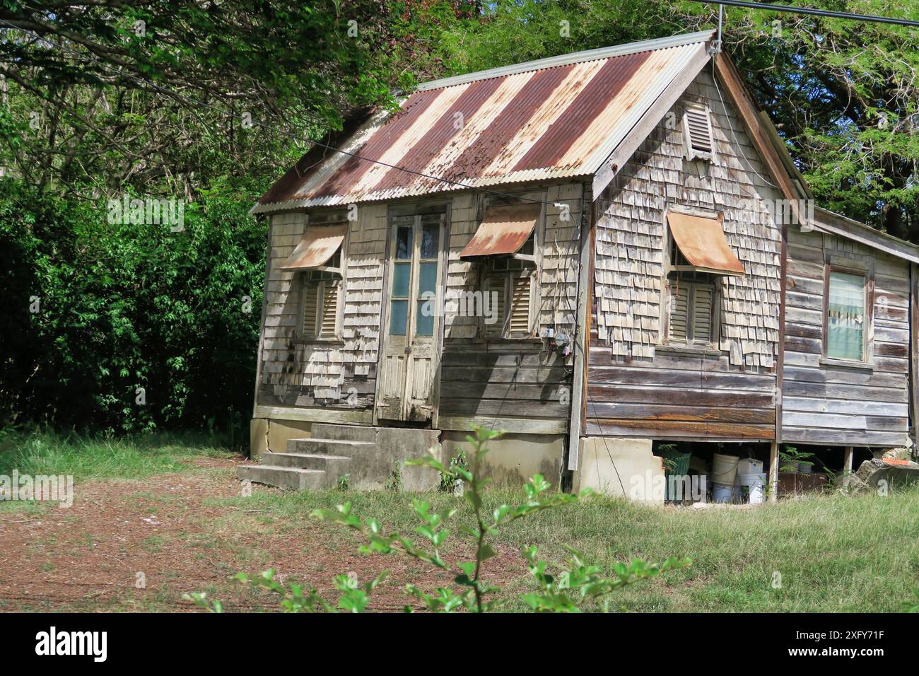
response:
{"label": "grass and dirt yard stretching across in front of the house", "polygon": [[[401,608],[409,601],[407,582],[427,590],[451,584],[450,576],[400,555],[358,555],[357,533],[309,516],[347,499],[355,513],[378,518],[385,531],[411,533],[419,523],[411,495],[255,487],[243,497],[234,479],[240,459],[210,443],[5,439],[0,474],[13,467],[20,474],[74,474],[76,490],[70,510],[0,507],[7,542],[0,553],[0,610],[190,609],[181,595],[199,590],[226,602],[228,610],[277,610],[264,594],[227,581],[236,571],[267,567],[330,598],[337,574],[354,570],[364,580],[390,570],[371,609]],[[444,557],[456,562],[469,556],[468,538],[459,533],[460,524],[471,523],[464,500],[437,492],[416,497],[437,510],[459,507]],[[489,501],[494,507],[522,497],[520,490],[495,487]],[[570,545],[601,567],[632,557],[692,557],[691,567],[617,592],[614,605],[625,611],[899,612],[919,588],[917,514],[915,488],[754,509],[590,498],[503,528],[486,577],[501,587],[507,610],[522,610],[519,594],[532,583],[521,550],[538,545],[557,571]],[[146,571],[143,590],[134,585],[138,571]],[[24,585],[28,594],[20,593]]]}

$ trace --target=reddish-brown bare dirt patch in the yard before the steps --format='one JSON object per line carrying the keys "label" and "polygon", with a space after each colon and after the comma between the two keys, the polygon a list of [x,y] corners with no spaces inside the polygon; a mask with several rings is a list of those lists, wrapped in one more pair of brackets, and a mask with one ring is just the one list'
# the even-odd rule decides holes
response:
{"label": "reddish-brown bare dirt patch in the yard before the steps", "polygon": [[[188,462],[196,467],[187,472],[78,484],[69,509],[0,512],[0,611],[198,610],[181,600],[191,591],[207,591],[227,611],[276,611],[275,598],[228,581],[269,567],[330,600],[337,598],[335,575],[353,571],[364,581],[389,570],[373,610],[401,610],[409,581],[431,590],[451,583],[402,556],[360,555],[357,533],[308,513],[266,523],[259,510],[221,505],[221,498],[240,494],[234,467],[241,460]],[[488,562],[490,579],[519,576],[519,552],[498,551]]]}

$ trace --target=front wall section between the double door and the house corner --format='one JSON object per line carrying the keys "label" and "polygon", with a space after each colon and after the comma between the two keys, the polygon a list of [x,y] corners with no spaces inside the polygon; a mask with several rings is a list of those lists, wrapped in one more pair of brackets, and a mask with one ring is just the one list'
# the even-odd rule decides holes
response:
{"label": "front wall section between the double door and the house corner", "polygon": [[[582,209],[581,184],[535,190],[547,202],[537,224],[541,243],[539,294],[534,310],[538,337],[547,328],[573,335],[577,308],[577,272]],[[562,218],[567,205],[569,218]],[[460,260],[459,253],[478,227],[482,198],[453,199],[450,218],[448,290],[454,294],[479,288],[481,263]],[[542,349],[534,339],[501,340],[478,335],[477,317],[465,317],[447,304],[440,381],[443,430],[469,430],[471,423],[512,432],[560,433],[571,415],[571,378],[565,360]],[[571,364],[573,356],[567,362]]]}

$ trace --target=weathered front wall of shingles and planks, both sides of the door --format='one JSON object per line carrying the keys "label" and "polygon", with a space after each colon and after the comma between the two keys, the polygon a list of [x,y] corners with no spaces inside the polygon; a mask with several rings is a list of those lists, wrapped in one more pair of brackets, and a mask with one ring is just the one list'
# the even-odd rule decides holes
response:
{"label": "weathered front wall of shingles and planks, both sides of the door", "polygon": [[[581,184],[529,191],[549,202],[538,228],[537,336],[547,327],[572,335],[577,307],[578,242],[584,209]],[[440,196],[442,201],[442,196]],[[587,201],[589,205],[589,200]],[[567,204],[570,218],[561,216]],[[458,194],[449,205],[448,292],[479,289],[481,264],[459,259],[481,220],[482,197]],[[362,205],[346,239],[342,340],[296,338],[299,293],[294,274],[278,269],[300,241],[308,214],[271,219],[265,341],[257,404],[371,412],[380,349],[380,305],[388,206]],[[455,297],[455,296],[454,296]],[[564,360],[541,349],[539,338],[486,338],[477,317],[448,301],[440,372],[438,427],[468,430],[472,422],[508,431],[558,433],[571,414],[571,378]],[[573,355],[567,360],[570,365]],[[354,396],[357,393],[357,396]],[[350,395],[350,396],[349,396]]]}

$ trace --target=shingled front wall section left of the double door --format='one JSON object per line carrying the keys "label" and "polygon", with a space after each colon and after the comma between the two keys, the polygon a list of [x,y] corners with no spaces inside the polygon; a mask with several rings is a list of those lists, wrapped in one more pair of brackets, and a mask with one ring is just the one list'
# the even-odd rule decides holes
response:
{"label": "shingled front wall section left of the double door", "polygon": [[[297,337],[300,317],[298,276],[278,266],[300,242],[309,216],[302,212],[272,216],[266,289],[265,343],[260,355],[260,406],[371,409],[380,340],[382,259],[386,206],[362,205],[349,223],[342,267],[344,290],[341,336],[328,341]],[[334,326],[323,317],[326,331]]]}

